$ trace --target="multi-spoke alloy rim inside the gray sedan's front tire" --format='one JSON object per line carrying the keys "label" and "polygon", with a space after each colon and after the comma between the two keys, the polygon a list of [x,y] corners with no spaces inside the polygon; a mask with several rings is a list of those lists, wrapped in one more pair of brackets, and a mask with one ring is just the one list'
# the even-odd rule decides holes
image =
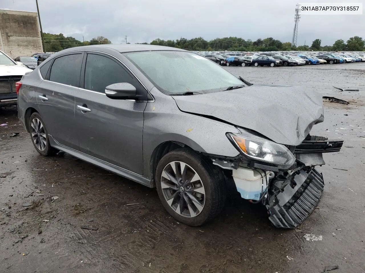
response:
{"label": "multi-spoke alloy rim inside the gray sedan's front tire", "polygon": [[204,185],[196,171],[184,162],[173,161],[165,166],[161,189],[168,205],[183,217],[195,217],[204,208]]}

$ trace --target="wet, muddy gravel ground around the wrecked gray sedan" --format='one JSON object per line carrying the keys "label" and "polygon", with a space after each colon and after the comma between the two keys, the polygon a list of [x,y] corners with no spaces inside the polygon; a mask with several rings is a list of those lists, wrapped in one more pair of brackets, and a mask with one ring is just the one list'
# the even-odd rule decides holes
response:
{"label": "wet, muddy gravel ground around the wrecked gray sedan", "polygon": [[178,223],[155,189],[67,154],[38,155],[16,109],[0,110],[8,124],[0,127],[0,272],[317,273],[338,265],[333,272],[364,273],[364,68],[226,68],[252,83],[300,85],[351,102],[324,102],[325,120],[312,130],[345,147],[324,154],[324,193],[299,230],[272,227],[263,207],[235,197],[207,225]]}

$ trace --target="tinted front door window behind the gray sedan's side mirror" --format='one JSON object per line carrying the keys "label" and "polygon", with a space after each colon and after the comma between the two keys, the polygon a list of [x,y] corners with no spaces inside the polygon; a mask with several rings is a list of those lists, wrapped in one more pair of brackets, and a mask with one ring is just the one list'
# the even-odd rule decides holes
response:
{"label": "tinted front door window behind the gray sedan's side mirror", "polygon": [[137,88],[134,79],[120,64],[105,56],[88,54],[84,89],[104,93],[108,85],[123,82],[131,83]]}

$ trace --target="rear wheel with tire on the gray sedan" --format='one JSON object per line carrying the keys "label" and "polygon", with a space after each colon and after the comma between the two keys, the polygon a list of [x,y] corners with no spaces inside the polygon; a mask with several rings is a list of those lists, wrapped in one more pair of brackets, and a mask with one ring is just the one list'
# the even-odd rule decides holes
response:
{"label": "rear wheel with tire on the gray sedan", "polygon": [[45,124],[38,112],[34,112],[28,121],[30,137],[35,150],[41,155],[55,155],[58,150],[51,147]]}

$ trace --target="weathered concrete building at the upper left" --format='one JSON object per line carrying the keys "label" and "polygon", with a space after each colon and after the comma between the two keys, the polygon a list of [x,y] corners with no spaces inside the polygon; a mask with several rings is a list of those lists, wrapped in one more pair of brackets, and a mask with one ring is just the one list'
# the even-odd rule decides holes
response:
{"label": "weathered concrete building at the upper left", "polygon": [[12,58],[43,52],[37,12],[0,9],[0,50]]}

